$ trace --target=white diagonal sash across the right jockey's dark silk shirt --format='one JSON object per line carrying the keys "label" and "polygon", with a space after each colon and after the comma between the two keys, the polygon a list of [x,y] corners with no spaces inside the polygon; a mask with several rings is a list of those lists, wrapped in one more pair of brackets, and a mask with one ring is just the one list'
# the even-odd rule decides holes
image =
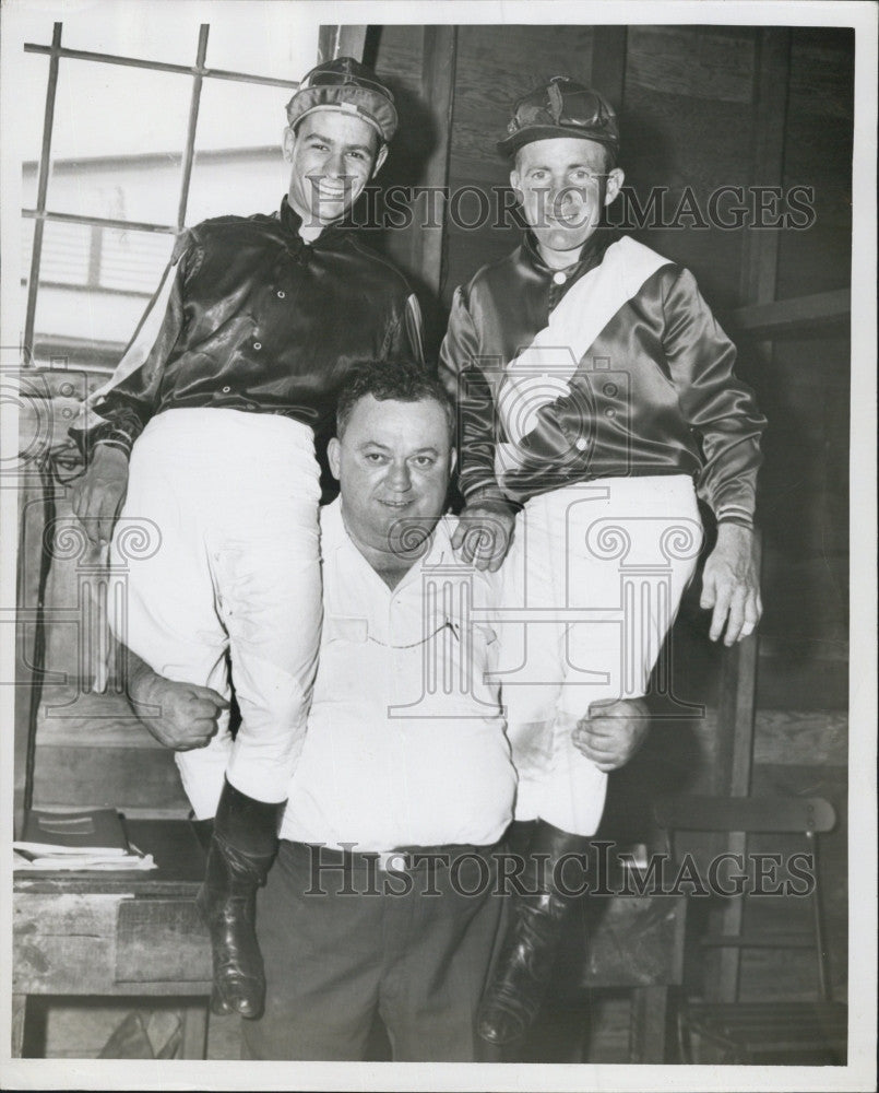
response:
{"label": "white diagonal sash across the right jockey's dark silk shirt", "polygon": [[[590,346],[617,312],[668,259],[623,236],[599,266],[565,294],[531,345],[507,365],[498,395],[498,416],[507,443],[495,446],[495,474],[522,466],[519,444],[537,424],[538,411],[571,391],[571,379]],[[620,367],[622,362],[614,362]]]}

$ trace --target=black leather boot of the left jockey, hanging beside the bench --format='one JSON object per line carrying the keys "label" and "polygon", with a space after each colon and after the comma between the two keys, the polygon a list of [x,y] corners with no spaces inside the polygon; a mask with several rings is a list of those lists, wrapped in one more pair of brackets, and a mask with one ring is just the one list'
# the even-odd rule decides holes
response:
{"label": "black leather boot of the left jockey, hanging beside the bench", "polygon": [[223,788],[195,903],[211,931],[214,986],[211,1011],[256,1020],[265,1006],[265,972],[257,943],[257,889],[277,850],[284,802],[266,804]]}

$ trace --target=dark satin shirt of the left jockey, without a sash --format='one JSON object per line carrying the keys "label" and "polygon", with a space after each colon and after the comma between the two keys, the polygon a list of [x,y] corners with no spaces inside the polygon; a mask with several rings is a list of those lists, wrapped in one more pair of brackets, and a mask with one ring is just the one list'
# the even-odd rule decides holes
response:
{"label": "dark satin shirt of the left jockey, without a sash", "polygon": [[285,198],[280,214],[224,216],[181,235],[158,336],[96,402],[102,422],[80,431],[83,446],[129,450],[152,416],[192,407],[283,414],[321,435],[332,432],[352,367],[424,361],[420,312],[403,275],[354,225],[325,227],[309,244],[300,223]]}

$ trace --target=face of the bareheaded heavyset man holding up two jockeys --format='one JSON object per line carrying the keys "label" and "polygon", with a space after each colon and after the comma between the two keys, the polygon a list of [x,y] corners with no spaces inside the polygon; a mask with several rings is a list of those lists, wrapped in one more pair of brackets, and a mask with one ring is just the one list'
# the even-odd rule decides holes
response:
{"label": "face of the bareheaded heavyset man holding up two jockeys", "polygon": [[367,395],[328,455],[348,531],[363,545],[405,553],[413,546],[406,528],[430,531],[442,515],[455,453],[446,413],[432,399]]}

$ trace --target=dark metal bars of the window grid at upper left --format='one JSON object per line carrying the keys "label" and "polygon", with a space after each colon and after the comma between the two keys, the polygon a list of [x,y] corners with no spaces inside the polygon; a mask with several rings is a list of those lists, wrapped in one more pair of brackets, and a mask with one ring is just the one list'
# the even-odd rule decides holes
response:
{"label": "dark metal bars of the window grid at upper left", "polygon": [[[24,321],[24,345],[26,348],[26,359],[32,360],[34,348],[34,322],[36,317],[37,292],[39,289],[39,271],[43,260],[43,237],[47,221],[57,221],[67,224],[84,224],[100,228],[129,228],[138,232],[162,232],[175,235],[179,232],[186,221],[187,203],[189,201],[189,188],[192,179],[192,164],[194,160],[195,129],[199,121],[199,106],[201,104],[201,90],[204,80],[229,80],[237,83],[256,83],[272,87],[288,87],[296,90],[298,81],[280,80],[274,77],[254,75],[248,72],[231,72],[226,69],[211,69],[205,64],[207,55],[207,35],[210,25],[202,23],[199,27],[199,40],[195,49],[195,63],[169,64],[164,61],[149,61],[136,57],[119,57],[115,54],[92,52],[85,49],[67,49],[61,45],[62,23],[55,23],[52,27],[52,40],[50,46],[38,43],[25,43],[24,51],[27,54],[43,54],[49,58],[49,75],[46,85],[46,109],[43,117],[43,143],[39,153],[39,167],[37,173],[37,200],[36,208],[22,209],[22,215],[34,220],[34,242],[31,251],[31,274],[27,282],[27,307]],[[51,212],[46,208],[46,195],[49,186],[49,166],[51,160],[52,129],[55,125],[55,96],[58,86],[58,68],[61,58],[67,60],[98,61],[105,64],[121,64],[126,68],[150,69],[154,72],[175,72],[178,75],[190,75],[192,78],[192,96],[189,105],[189,122],[187,126],[186,142],[183,145],[180,197],[177,204],[176,224],[152,224],[143,221],[114,220],[106,216],[81,216],[74,213]]]}

